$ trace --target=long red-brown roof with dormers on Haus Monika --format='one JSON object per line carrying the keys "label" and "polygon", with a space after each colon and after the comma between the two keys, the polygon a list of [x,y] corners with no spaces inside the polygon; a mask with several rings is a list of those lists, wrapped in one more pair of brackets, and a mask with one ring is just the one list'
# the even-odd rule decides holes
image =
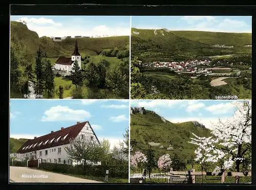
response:
{"label": "long red-brown roof with dormers on Haus Monika", "polygon": [[[88,121],[82,122],[82,123],[77,123],[76,125],[73,125],[71,127],[61,128],[61,130],[59,130],[59,131],[55,131],[55,132],[46,134],[44,136],[40,136],[40,137],[37,137],[34,139],[28,139],[28,141],[26,141],[26,143],[24,143],[24,145],[18,149],[17,153],[23,154],[23,153],[27,153],[27,152],[36,151],[36,150],[41,150],[41,149],[46,149],[46,148],[69,144],[70,138],[75,138],[79,134],[79,132],[82,130],[84,125],[86,125],[87,123],[90,125],[90,123]],[[91,127],[91,125],[90,125],[90,127]],[[91,129],[92,129],[92,127],[91,127]],[[92,129],[92,131],[93,131],[93,129]],[[93,131],[93,133],[94,133],[94,131]],[[65,137],[66,135],[68,135],[68,136],[64,140],[61,140],[61,138]],[[95,133],[94,133],[94,135],[96,136]],[[55,142],[54,140],[57,138],[59,138],[59,139],[57,142]],[[52,139],[54,139],[54,140],[52,141],[51,144],[49,144],[49,141]],[[97,136],[96,136],[96,139],[98,140]],[[43,145],[43,143],[45,143],[47,140],[49,140],[49,141],[45,145]],[[40,144],[41,142],[42,142],[42,144],[38,147],[37,145]],[[99,142],[99,140],[98,140],[98,142]],[[35,145],[35,144],[36,144],[35,147],[32,146],[30,149],[23,150],[24,147],[28,147],[28,146]]]}

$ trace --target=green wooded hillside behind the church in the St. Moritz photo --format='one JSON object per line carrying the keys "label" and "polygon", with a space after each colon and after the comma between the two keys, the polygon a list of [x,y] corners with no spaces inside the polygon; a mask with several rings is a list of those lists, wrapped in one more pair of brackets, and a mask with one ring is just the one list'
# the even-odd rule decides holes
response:
{"label": "green wooded hillside behind the church in the St. Moritz photo", "polygon": [[[20,45],[27,49],[32,57],[36,56],[38,47],[48,57],[70,56],[74,51],[74,38],[66,38],[61,42],[53,41],[50,37],[40,37],[22,22],[11,21],[11,45]],[[99,54],[103,49],[129,50],[129,36],[102,37],[102,38],[78,38],[80,52]]]}

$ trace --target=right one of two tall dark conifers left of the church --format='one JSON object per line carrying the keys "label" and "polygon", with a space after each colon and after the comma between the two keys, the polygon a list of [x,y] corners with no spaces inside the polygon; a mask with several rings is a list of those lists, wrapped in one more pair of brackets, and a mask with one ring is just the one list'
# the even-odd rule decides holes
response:
{"label": "right one of two tall dark conifers left of the church", "polygon": [[50,60],[46,60],[45,70],[45,90],[47,98],[53,98],[54,96],[54,74]]}

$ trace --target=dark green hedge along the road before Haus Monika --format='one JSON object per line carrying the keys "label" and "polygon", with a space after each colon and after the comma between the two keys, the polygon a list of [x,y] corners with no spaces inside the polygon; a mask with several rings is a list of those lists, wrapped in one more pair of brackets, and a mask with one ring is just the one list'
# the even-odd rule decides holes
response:
{"label": "dark green hedge along the road before Haus Monika", "polygon": [[95,177],[105,176],[106,170],[109,170],[109,177],[128,178],[128,163],[121,165],[86,165],[84,173],[83,165],[69,165],[58,163],[43,162],[39,164],[39,169],[63,174],[90,175]]}

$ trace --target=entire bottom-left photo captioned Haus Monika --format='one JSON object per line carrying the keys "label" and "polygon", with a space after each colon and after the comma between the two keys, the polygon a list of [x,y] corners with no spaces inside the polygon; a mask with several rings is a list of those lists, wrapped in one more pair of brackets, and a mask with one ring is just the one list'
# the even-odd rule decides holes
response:
{"label": "entire bottom-left photo captioned Haus Monika", "polygon": [[10,105],[11,183],[129,182],[129,100]]}

